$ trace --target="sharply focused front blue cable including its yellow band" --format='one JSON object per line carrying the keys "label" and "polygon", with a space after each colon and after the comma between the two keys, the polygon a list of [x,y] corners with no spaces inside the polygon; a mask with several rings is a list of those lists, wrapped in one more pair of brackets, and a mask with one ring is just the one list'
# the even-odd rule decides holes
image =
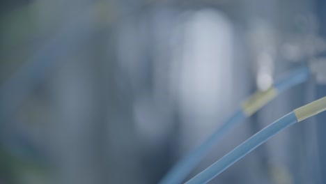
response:
{"label": "sharply focused front blue cable including its yellow band", "polygon": [[295,109],[286,116],[280,118],[274,123],[268,125],[263,130],[256,133],[256,135],[244,141],[240,146],[236,147],[233,151],[225,155],[223,158],[212,164],[210,167],[197,174],[188,181],[186,184],[202,184],[208,183],[225,169],[230,167],[232,164],[243,158],[245,155],[253,151],[255,148],[263,144],[265,141],[276,135],[281,130],[288,128],[290,125],[303,121],[313,115],[326,110],[326,97],[320,98],[319,100],[313,101],[308,105],[304,105],[300,108]]}

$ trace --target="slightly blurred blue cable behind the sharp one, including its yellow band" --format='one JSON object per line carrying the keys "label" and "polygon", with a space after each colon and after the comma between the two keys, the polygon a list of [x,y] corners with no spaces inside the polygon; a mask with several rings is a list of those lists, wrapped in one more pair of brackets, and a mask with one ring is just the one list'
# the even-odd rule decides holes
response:
{"label": "slightly blurred blue cable behind the sharp one, including its yellow band", "polygon": [[182,158],[177,164],[162,178],[160,184],[179,184],[187,177],[187,175],[196,167],[201,159],[210,151],[219,139],[221,139],[226,132],[231,130],[235,125],[238,125],[245,118],[257,112],[261,107],[270,102],[279,93],[292,88],[297,84],[301,84],[309,78],[310,70],[308,66],[300,66],[288,72],[286,76],[275,82],[274,86],[267,89],[267,91],[257,91],[251,95],[242,104],[242,107],[236,111],[233,116],[228,118],[221,127],[213,132],[203,144],[194,151],[190,152],[185,158]]}

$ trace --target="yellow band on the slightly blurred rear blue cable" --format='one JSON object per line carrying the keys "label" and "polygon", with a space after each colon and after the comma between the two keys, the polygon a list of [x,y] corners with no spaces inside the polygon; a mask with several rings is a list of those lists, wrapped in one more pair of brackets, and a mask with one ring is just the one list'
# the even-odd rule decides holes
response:
{"label": "yellow band on the slightly blurred rear blue cable", "polygon": [[258,109],[261,109],[267,102],[270,102],[277,95],[277,90],[274,87],[270,87],[267,91],[258,91],[251,95],[242,104],[242,110],[246,116],[251,116]]}

